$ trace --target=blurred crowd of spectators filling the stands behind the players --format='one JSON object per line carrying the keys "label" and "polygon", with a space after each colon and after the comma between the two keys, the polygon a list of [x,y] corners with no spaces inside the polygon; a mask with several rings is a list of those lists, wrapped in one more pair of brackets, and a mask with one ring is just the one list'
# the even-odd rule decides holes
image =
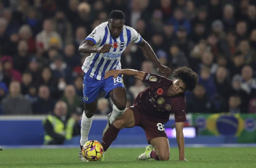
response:
{"label": "blurred crowd of spectators filling the stands behind the players", "polygon": [[[256,1],[254,0],[0,0],[0,114],[48,114],[57,100],[82,114],[78,52],[114,9],[150,43],[172,70],[189,66],[199,85],[186,93],[187,112],[256,112]],[[157,73],[130,43],[122,68]],[[170,77],[172,79],[172,77]],[[147,86],[124,76],[127,106]],[[99,99],[97,114],[111,102]]]}

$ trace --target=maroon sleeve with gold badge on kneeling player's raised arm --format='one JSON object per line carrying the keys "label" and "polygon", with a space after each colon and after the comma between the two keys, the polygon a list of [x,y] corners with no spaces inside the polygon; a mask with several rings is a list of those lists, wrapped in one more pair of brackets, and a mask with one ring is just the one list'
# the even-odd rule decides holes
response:
{"label": "maroon sleeve with gold badge on kneeling player's raised arm", "polygon": [[154,73],[145,73],[145,76],[143,77],[142,82],[150,84],[152,88],[157,88],[157,87],[166,85],[168,83],[170,84],[172,83],[171,80]]}

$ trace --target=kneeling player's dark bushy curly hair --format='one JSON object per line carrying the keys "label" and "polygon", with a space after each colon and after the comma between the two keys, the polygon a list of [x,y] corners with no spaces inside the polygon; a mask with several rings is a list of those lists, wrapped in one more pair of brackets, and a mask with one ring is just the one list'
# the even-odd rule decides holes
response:
{"label": "kneeling player's dark bushy curly hair", "polygon": [[174,78],[180,78],[186,85],[186,89],[192,92],[198,84],[198,75],[191,68],[182,67],[174,70]]}

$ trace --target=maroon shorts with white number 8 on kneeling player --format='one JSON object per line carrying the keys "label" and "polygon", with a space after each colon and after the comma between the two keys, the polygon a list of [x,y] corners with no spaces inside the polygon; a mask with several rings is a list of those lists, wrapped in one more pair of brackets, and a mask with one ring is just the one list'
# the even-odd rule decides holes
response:
{"label": "maroon shorts with white number 8 on kneeling player", "polygon": [[133,111],[135,126],[140,126],[145,131],[148,144],[150,144],[149,141],[153,138],[167,138],[163,123],[152,121],[147,115],[141,114],[140,109],[136,105],[129,107],[129,109]]}

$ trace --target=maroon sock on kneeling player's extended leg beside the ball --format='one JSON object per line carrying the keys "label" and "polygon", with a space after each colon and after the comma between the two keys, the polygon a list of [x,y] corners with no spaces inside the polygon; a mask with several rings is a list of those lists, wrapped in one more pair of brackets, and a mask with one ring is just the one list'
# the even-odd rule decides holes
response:
{"label": "maroon sock on kneeling player's extended leg beside the ball", "polygon": [[104,152],[108,150],[109,146],[112,144],[114,140],[116,140],[117,134],[120,129],[116,128],[113,124],[109,126],[108,130],[105,132],[101,145],[103,146]]}

